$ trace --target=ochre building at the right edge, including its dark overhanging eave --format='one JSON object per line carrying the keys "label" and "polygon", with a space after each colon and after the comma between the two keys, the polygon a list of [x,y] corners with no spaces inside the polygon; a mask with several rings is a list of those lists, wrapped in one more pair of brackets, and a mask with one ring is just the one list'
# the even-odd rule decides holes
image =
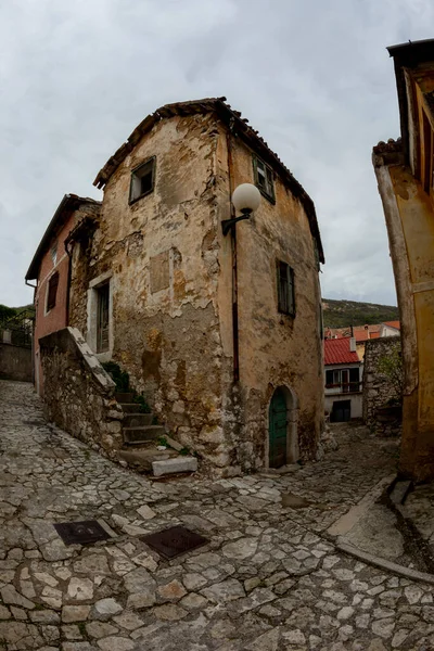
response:
{"label": "ochre building at the right edge, including its dark overhanging eave", "polygon": [[405,370],[400,473],[434,478],[434,40],[388,48],[400,138],[373,148],[387,226]]}

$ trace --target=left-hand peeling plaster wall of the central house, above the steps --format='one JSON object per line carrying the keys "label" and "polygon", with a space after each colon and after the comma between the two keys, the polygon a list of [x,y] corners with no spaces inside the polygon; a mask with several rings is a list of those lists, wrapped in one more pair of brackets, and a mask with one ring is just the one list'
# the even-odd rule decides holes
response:
{"label": "left-hand peeling plaster wall of the central house, above the steps", "polygon": [[[90,248],[75,253],[71,322],[88,332],[84,289],[111,273],[112,358],[174,436],[224,465],[216,146],[209,115],[162,120],[138,143],[105,188]],[[131,170],[154,155],[154,191],[129,205]]]}

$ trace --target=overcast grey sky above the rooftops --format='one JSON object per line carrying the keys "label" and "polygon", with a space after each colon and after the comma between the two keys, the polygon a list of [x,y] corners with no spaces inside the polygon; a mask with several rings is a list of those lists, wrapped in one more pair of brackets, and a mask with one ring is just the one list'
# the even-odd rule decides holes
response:
{"label": "overcast grey sky above the rooftops", "polygon": [[[0,303],[62,196],[167,102],[226,95],[314,199],[322,294],[396,304],[372,145],[396,138],[386,46],[433,37],[431,0],[14,0],[0,8]],[[430,31],[431,29],[431,31]]]}

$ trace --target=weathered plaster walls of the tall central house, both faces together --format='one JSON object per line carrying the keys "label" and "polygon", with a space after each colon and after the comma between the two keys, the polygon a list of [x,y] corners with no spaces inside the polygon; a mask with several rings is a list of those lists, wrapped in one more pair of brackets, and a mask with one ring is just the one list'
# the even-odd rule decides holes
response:
{"label": "weathered plaster walls of the tall central house, both faces together", "polygon": [[[323,419],[315,208],[288,170],[279,174],[279,162],[276,203],[264,197],[238,225],[237,241],[224,237],[232,190],[254,182],[253,152],[214,105],[191,104],[146,118],[149,127],[97,178],[104,186],[100,226],[74,247],[71,324],[91,344],[90,293],[105,279],[111,343],[99,357],[128,371],[174,437],[226,473],[267,465],[269,404],[283,386],[286,460],[314,457]],[[154,190],[129,203],[131,170],[152,156]],[[294,269],[295,317],[278,312],[279,259]]]}

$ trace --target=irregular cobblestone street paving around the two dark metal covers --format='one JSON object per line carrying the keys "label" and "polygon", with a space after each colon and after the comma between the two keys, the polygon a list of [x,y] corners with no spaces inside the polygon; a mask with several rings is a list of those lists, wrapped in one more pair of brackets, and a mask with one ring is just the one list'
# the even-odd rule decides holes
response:
{"label": "irregular cobblestone street paving around the two dark metal covers", "polygon": [[[157,482],[48,425],[28,384],[0,382],[0,648],[434,649],[434,586],[324,536],[394,472],[393,442],[337,429],[337,450],[281,476]],[[95,519],[116,537],[66,547],[53,527]],[[139,539],[174,524],[209,544],[165,561]]]}

